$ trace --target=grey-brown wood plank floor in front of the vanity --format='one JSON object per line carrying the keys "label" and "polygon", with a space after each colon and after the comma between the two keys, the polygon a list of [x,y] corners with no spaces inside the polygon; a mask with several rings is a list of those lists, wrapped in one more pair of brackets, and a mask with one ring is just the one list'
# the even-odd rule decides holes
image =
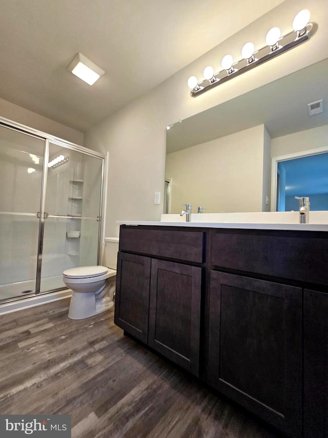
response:
{"label": "grey-brown wood plank floor in front of the vanity", "polygon": [[70,414],[76,438],[276,438],[123,335],[113,311],[73,321],[69,299],[0,316],[0,413]]}

